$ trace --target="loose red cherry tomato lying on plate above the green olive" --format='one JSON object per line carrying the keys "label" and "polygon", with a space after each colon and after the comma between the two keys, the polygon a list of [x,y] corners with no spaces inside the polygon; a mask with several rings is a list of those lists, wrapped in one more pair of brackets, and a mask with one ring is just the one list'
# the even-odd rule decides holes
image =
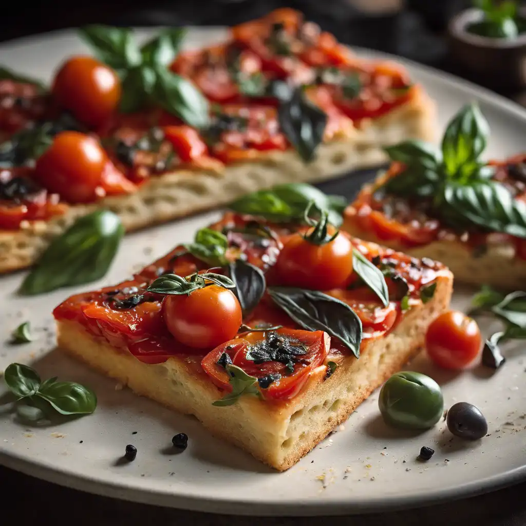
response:
{"label": "loose red cherry tomato lying on plate above the green olive", "polygon": [[445,369],[462,369],[480,352],[482,337],[477,322],[463,312],[448,310],[435,319],[426,334],[429,357]]}

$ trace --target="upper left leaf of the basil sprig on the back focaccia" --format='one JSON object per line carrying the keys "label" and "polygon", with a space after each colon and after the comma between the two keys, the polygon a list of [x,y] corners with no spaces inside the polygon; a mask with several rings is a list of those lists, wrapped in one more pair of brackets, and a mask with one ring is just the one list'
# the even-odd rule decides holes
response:
{"label": "upper left leaf of the basil sprig on the back focaccia", "polygon": [[131,29],[105,25],[89,25],[79,29],[80,37],[90,45],[105,64],[126,69],[141,63],[139,47]]}

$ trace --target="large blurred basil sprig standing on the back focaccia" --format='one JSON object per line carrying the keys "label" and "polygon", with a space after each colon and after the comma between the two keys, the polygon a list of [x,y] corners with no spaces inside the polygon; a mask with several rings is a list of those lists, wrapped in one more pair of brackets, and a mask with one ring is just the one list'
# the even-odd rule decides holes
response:
{"label": "large blurred basil sprig standing on the back focaccia", "polygon": [[168,69],[184,35],[184,29],[165,29],[139,48],[128,28],[90,25],[80,29],[80,36],[97,56],[122,78],[123,112],[155,105],[190,126],[203,128],[209,122],[207,99],[190,80]]}

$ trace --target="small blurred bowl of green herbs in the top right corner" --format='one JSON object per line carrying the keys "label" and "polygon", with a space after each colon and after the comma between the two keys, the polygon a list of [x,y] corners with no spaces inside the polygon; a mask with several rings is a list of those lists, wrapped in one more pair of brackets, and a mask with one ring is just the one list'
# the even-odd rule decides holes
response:
{"label": "small blurred bowl of green herbs in the top right corner", "polygon": [[526,14],[513,0],[478,0],[449,24],[452,59],[495,88],[526,86]]}

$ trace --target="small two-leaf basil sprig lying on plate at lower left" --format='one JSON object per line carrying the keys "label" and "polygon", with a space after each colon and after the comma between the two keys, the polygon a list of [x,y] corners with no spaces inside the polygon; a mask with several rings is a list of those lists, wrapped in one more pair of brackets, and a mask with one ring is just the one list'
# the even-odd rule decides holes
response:
{"label": "small two-leaf basil sprig lying on plate at lower left", "polygon": [[[70,415],[93,413],[97,407],[97,396],[88,387],[76,382],[59,382],[57,377],[43,382],[34,369],[21,363],[8,365],[4,380],[18,400],[39,409],[50,406],[60,414]],[[47,404],[38,403],[37,399]]]}

